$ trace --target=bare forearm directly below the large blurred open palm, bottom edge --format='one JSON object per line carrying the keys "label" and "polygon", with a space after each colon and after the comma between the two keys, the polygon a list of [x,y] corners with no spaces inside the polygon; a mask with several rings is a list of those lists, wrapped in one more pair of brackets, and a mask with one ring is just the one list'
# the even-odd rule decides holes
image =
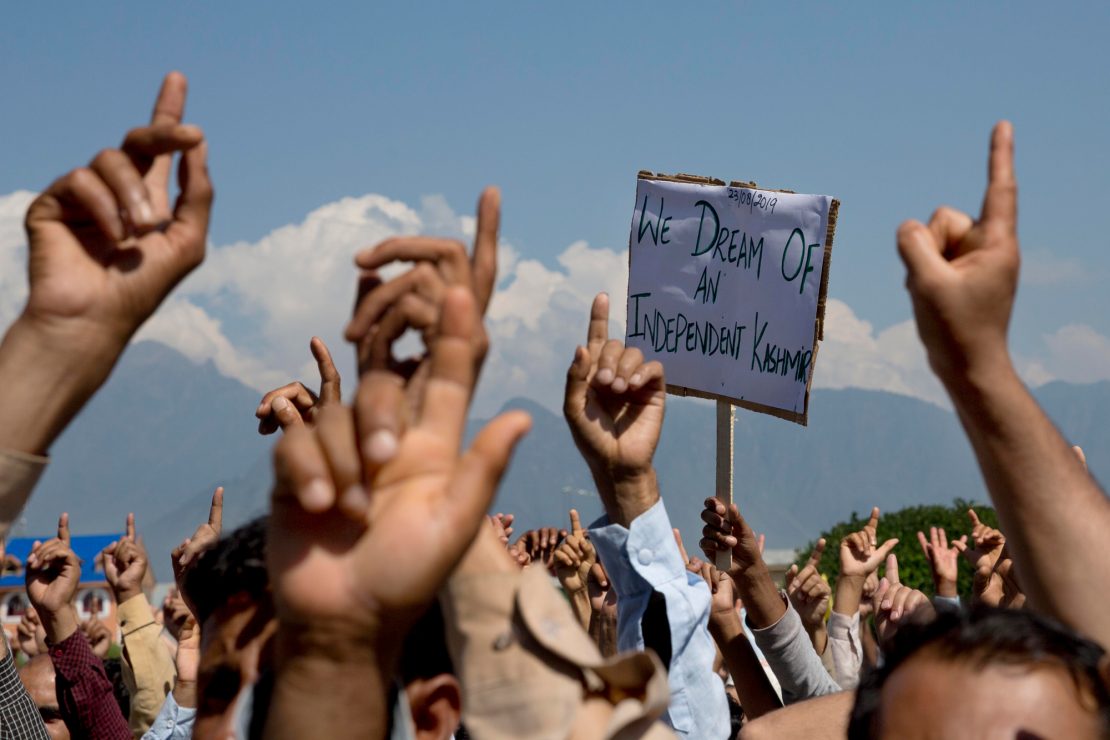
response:
{"label": "bare forearm directly below the large blurred open palm, bottom edge", "polygon": [[306,643],[302,636],[290,635],[293,631],[279,631],[265,737],[340,738],[359,728],[362,737],[385,738],[396,656],[350,641]]}

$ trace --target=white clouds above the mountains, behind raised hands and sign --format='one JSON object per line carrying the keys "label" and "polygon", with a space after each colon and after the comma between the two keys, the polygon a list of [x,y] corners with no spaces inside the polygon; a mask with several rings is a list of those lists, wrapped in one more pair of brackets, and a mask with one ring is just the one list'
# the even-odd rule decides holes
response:
{"label": "white clouds above the mountains, behind raised hands and sign", "polygon": [[[0,196],[0,326],[19,312],[27,295],[22,217],[29,192]],[[435,233],[470,241],[475,221],[456,214],[438,195],[413,209],[382,195],[345,197],[274,230],[256,242],[212,247],[191,275],[140,331],[194,362],[212,361],[223,374],[264,391],[293,378],[315,382],[309,354],[312,335],[352,366],[342,342],[354,292],[356,251],[397,234]],[[476,410],[488,414],[514,396],[557,408],[567,364],[585,339],[594,295],[606,291],[612,331],[623,336],[626,250],[567,246],[553,266],[522,259],[502,243],[500,278],[490,305],[492,348]],[[1027,259],[1026,280],[1058,284],[1078,280],[1063,261]],[[1056,272],[1043,265],[1054,264]],[[1027,382],[1086,383],[1110,378],[1110,338],[1086,325],[1068,325],[1043,337],[1037,357],[1020,357]],[[914,396],[948,406],[926,362],[912,321],[876,331],[848,304],[829,300],[816,385],[862,387]],[[352,388],[347,385],[347,392]]]}

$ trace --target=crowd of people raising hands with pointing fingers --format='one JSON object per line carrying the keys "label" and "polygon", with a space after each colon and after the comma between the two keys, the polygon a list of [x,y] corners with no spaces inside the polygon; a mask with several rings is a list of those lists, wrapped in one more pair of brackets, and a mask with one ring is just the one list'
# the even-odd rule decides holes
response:
{"label": "crowd of people raising hands with pointing fingers", "polygon": [[[51,443],[204,259],[213,189],[184,102],[171,73],[149,124],[29,207],[29,295],[0,344],[0,536]],[[491,187],[471,250],[402,236],[356,256],[354,393],[344,398],[312,338],[319,391],[294,382],[255,409],[261,433],[281,434],[270,513],[223,531],[218,489],[173,550],[176,588],[162,602],[133,516],[99,557],[114,633],[77,616],[65,514],[13,564],[31,608],[16,645],[0,641],[0,738],[1110,736],[1110,609],[1098,597],[1110,501],[1009,354],[1008,123],[991,136],[979,216],[940,207],[897,234],[929,363],[1001,528],[971,510],[963,535],[899,543],[876,508],[842,541],[819,540],[785,584],[743,496],[704,498],[702,557],[672,528],[668,509],[703,496],[659,490],[664,368],[609,336],[604,294],[583,317],[564,402],[604,516],[584,525],[571,510],[514,537],[512,514],[488,514],[529,427],[509,412],[463,446],[498,222]],[[383,280],[394,263],[408,267]],[[397,357],[410,330],[423,349]],[[827,547],[839,553],[831,585]],[[900,581],[899,547],[925,551],[932,592]],[[966,594],[960,558],[975,571]]]}

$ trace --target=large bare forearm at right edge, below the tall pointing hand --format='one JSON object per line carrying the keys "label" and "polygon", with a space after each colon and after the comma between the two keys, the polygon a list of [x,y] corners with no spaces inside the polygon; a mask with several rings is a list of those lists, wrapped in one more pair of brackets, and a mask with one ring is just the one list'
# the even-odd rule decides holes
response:
{"label": "large bare forearm at right edge, below the tall pointing hand", "polygon": [[1110,501],[1008,363],[946,385],[1032,604],[1110,645],[1110,617],[1090,598],[1110,576]]}

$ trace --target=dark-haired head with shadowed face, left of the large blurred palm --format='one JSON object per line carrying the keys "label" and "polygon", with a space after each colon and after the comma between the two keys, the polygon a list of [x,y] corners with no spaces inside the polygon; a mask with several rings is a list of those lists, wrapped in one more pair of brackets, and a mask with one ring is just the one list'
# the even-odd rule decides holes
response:
{"label": "dark-haired head with shadowed face, left of the large blurred palm", "polygon": [[268,526],[260,517],[235,529],[185,574],[183,588],[201,626],[196,737],[240,734],[236,709],[244,701],[253,702],[259,724],[265,719],[265,697],[260,702],[259,695],[271,686],[278,628],[266,574]]}

